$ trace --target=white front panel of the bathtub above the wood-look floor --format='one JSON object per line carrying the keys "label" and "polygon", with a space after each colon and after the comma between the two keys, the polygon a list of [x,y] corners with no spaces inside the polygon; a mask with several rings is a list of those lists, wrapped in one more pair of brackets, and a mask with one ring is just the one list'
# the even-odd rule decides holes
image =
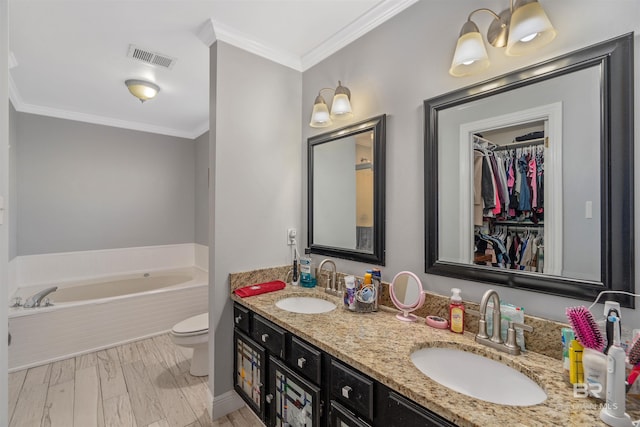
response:
{"label": "white front panel of the bathtub above the wood-look floor", "polygon": [[[60,303],[41,310],[10,309],[9,372],[164,334],[176,323],[206,312],[208,274],[194,267],[173,271],[194,279],[183,288],[110,300]],[[20,292],[30,294],[26,288]]]}

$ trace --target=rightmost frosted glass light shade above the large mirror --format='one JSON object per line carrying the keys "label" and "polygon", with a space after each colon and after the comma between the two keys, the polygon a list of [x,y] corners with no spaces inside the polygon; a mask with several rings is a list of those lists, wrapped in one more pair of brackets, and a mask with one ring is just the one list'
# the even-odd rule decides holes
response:
{"label": "rightmost frosted glass light shade above the large mirror", "polygon": [[[522,4],[524,3],[524,4]],[[516,3],[516,9],[511,16],[509,41],[506,54],[518,56],[537,49],[551,42],[556,37],[556,30],[536,0]]]}

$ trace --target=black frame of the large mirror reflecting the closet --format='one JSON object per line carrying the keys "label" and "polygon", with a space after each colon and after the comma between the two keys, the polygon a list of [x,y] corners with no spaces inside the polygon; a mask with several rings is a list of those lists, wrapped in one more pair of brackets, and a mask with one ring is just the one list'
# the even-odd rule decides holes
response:
{"label": "black frame of the large mirror reflecting the closet", "polygon": [[[503,92],[600,66],[601,280],[498,270],[438,260],[438,113]],[[425,272],[551,295],[594,300],[605,290],[634,292],[633,33],[424,101]],[[624,194],[629,197],[617,197]],[[634,298],[607,299],[634,308]]]}

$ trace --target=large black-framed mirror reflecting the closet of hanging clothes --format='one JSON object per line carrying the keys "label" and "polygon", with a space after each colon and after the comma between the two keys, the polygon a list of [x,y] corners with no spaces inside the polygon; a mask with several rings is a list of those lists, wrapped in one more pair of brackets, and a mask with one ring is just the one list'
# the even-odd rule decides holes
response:
{"label": "large black-framed mirror reflecting the closet of hanging clothes", "polygon": [[427,273],[585,300],[634,290],[633,34],[424,109]]}

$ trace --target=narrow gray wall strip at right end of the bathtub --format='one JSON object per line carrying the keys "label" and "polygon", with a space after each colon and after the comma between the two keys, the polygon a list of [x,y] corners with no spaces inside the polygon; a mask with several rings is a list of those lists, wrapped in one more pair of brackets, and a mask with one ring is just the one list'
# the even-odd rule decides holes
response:
{"label": "narrow gray wall strip at right end of the bathtub", "polygon": [[195,143],[195,243],[209,246],[209,131]]}

